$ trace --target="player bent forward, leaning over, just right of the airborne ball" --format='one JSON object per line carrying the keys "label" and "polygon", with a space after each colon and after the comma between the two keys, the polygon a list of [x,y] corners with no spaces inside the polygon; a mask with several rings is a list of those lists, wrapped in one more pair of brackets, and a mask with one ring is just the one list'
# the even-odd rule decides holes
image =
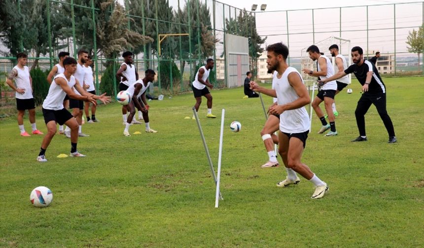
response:
{"label": "player bent forward, leaning over, just right of the airborne ball", "polygon": [[[132,96],[132,99],[128,105],[125,105],[125,107],[128,108],[128,111],[130,111],[130,114],[128,115],[128,118],[127,118],[127,123],[125,125],[125,129],[124,129],[125,136],[130,136],[129,128],[134,118],[134,115],[136,114],[136,106],[138,109],[141,109],[141,112],[143,113],[142,115],[143,115],[144,122],[146,124],[146,132],[152,132],[152,133],[157,132],[156,130],[153,130],[150,128],[149,115],[148,115],[148,111],[150,107],[149,105],[147,105],[147,101],[146,101],[146,90],[149,88],[149,85],[155,79],[156,73],[152,69],[147,69],[145,71],[145,75],[146,75],[145,78],[134,82],[132,85],[130,85],[130,87],[128,87],[128,90],[126,91]],[[139,101],[140,98],[141,98],[141,101]]]}

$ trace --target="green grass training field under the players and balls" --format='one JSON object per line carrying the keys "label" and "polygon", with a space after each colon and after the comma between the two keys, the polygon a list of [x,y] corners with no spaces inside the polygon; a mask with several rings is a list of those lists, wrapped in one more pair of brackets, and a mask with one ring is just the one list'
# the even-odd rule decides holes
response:
{"label": "green grass training field under the players and balls", "polygon": [[[314,188],[305,179],[276,187],[286,176],[282,166],[260,168],[268,160],[262,107],[258,98],[242,99],[242,88],[212,91],[218,118],[205,117],[206,100],[199,111],[216,166],[226,110],[218,209],[196,123],[184,120],[192,116],[192,94],[150,102],[156,134],[133,125],[130,132],[142,134],[124,137],[121,106],[101,106],[101,122],[83,125],[91,137],[78,140],[87,157],[57,158],[71,144],[56,135],[47,163],[35,161],[42,136],[20,137],[15,118],[3,119],[0,247],[422,247],[424,78],[384,81],[395,144],[387,143],[374,106],[366,115],[368,142],[350,142],[358,135],[356,81],[352,94],[336,97],[338,136],[317,134],[314,115],[303,161],[330,187],[320,200],[310,199]],[[229,129],[234,120],[243,125],[239,133]],[[40,112],[37,124],[46,131]],[[53,191],[48,208],[31,205],[36,186]]]}

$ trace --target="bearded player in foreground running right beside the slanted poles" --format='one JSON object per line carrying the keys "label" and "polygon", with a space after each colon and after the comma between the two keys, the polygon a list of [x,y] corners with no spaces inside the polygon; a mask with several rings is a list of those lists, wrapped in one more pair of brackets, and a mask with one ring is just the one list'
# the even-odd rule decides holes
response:
{"label": "bearded player in foreground running right beside the slanted poles", "polygon": [[277,186],[298,184],[300,179],[296,175],[297,172],[315,185],[315,192],[311,198],[321,198],[328,190],[327,184],[301,161],[310,128],[305,105],[311,102],[311,98],[300,73],[294,67],[289,67],[286,62],[287,46],[280,42],[268,46],[266,50],[268,70],[277,71],[273,79],[276,81],[275,89],[259,87],[253,81],[250,82],[250,88],[256,92],[277,97],[277,104],[270,108],[269,113],[281,115],[278,151],[287,171],[287,178]]}

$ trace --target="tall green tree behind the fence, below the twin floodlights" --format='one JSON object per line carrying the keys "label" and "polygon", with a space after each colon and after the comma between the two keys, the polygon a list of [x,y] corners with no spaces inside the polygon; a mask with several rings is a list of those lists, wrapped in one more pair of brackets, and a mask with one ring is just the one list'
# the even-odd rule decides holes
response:
{"label": "tall green tree behind the fence, below the twin floodlights", "polygon": [[265,43],[267,37],[262,38],[258,34],[254,15],[248,14],[246,9],[243,9],[235,19],[225,19],[225,29],[228,33],[249,38],[251,68],[255,71],[254,62],[263,53],[261,45]]}

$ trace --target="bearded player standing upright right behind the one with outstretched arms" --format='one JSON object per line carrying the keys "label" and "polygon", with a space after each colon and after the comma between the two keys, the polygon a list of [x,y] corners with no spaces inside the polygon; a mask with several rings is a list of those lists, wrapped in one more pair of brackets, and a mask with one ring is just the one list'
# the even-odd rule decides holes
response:
{"label": "bearded player standing upright right behind the one with outstretched arms", "polygon": [[[85,50],[79,50],[77,54],[78,54],[78,62],[76,63],[76,71],[73,74],[73,76],[78,81],[82,89],[86,91],[87,87],[84,83],[84,74],[85,74],[84,63],[87,62],[88,60],[88,52]],[[75,92],[75,94],[78,94],[78,95],[81,94],[75,88],[73,89],[73,91]],[[77,98],[71,98],[69,100],[69,107],[72,109],[72,115],[75,117],[76,122],[79,125],[78,136],[79,137],[90,136],[82,132],[82,114],[84,111],[84,101],[78,100]],[[65,135],[66,137],[71,138],[71,128],[69,126],[65,128]]]}

